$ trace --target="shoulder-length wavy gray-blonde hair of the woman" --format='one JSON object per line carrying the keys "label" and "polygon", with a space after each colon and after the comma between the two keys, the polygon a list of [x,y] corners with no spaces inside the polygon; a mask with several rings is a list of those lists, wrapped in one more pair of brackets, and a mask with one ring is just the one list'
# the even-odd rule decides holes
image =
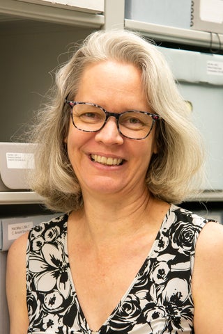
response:
{"label": "shoulder-length wavy gray-blonde hair of the woman", "polygon": [[173,203],[194,196],[201,184],[201,137],[161,52],[153,42],[130,31],[92,33],[57,70],[54,94],[39,111],[33,128],[32,141],[38,143],[38,149],[32,189],[45,198],[47,207],[57,211],[77,210],[83,205],[82,191],[64,143],[70,122],[64,101],[77,94],[87,65],[106,60],[138,67],[148,104],[153,113],[162,116],[156,129],[158,152],[153,154],[146,175],[148,189],[155,197]]}

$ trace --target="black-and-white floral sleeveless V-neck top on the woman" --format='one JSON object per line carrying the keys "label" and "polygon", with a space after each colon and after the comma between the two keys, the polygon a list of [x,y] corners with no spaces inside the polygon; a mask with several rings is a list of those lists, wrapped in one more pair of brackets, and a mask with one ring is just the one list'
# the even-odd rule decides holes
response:
{"label": "black-and-white floral sleeveless V-neck top on the woman", "polygon": [[89,328],[75,292],[67,221],[64,214],[29,232],[27,333],[194,333],[192,269],[197,238],[207,219],[171,205],[144,264],[98,332]]}

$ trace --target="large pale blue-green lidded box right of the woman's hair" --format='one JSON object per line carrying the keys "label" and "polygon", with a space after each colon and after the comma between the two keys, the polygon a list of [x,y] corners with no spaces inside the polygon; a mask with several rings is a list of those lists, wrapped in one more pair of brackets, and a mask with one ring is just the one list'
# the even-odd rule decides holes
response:
{"label": "large pale blue-green lidded box right of the woman's hair", "polygon": [[181,95],[192,105],[192,120],[206,145],[208,180],[204,190],[222,190],[223,56],[159,49],[169,62]]}

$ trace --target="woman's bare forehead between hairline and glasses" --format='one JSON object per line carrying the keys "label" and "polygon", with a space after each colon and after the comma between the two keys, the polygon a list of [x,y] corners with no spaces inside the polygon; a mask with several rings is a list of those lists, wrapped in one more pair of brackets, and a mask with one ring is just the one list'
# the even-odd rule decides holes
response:
{"label": "woman's bare forehead between hairline and glasses", "polygon": [[79,81],[75,100],[104,108],[148,109],[141,70],[130,63],[103,61],[87,65]]}

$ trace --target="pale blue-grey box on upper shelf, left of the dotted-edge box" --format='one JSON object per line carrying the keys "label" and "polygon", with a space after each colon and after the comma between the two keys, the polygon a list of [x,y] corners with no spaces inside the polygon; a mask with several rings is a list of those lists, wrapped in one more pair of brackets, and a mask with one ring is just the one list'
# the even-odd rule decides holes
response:
{"label": "pale blue-grey box on upper shelf, left of the dotted-edge box", "polygon": [[127,0],[125,18],[190,29],[191,0]]}

